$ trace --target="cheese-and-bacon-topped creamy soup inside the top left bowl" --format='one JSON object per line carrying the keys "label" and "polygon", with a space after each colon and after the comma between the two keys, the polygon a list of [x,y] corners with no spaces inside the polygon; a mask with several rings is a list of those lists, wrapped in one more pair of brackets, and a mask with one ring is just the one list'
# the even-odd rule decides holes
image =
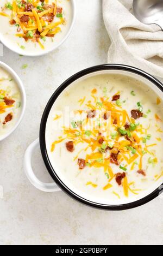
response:
{"label": "cheese-and-bacon-topped creamy soup inside the top left bowl", "polygon": [[71,26],[69,0],[1,0],[0,7],[1,37],[22,54],[51,50]]}

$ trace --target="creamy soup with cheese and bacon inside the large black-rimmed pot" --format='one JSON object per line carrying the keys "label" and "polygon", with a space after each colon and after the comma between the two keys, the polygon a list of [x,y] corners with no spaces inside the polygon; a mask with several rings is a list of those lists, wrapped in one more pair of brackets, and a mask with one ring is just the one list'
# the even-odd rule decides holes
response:
{"label": "creamy soup with cheese and bacon inside the large black-rimmed pot", "polygon": [[127,201],[162,180],[162,120],[161,99],[143,82],[93,75],[54,103],[48,156],[66,186],[83,197]]}

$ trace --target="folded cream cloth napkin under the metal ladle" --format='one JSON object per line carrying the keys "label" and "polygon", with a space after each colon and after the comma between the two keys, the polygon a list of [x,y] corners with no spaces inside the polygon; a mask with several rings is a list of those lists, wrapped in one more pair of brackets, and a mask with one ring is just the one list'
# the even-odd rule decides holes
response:
{"label": "folded cream cloth napkin under the metal ladle", "polygon": [[103,19],[111,39],[108,63],[128,64],[163,78],[163,31],[133,15],[133,0],[103,0]]}

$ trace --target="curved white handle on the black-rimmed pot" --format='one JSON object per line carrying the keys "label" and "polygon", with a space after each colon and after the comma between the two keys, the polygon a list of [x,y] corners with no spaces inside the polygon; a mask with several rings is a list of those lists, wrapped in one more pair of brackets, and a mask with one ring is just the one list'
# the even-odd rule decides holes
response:
{"label": "curved white handle on the black-rimmed pot", "polygon": [[39,147],[39,138],[36,139],[30,146],[27,148],[24,156],[24,170],[26,172],[28,180],[33,184],[34,187],[40,189],[43,192],[57,192],[61,189],[57,186],[56,183],[44,183],[40,181],[34,174],[32,169],[32,156],[34,150]]}

